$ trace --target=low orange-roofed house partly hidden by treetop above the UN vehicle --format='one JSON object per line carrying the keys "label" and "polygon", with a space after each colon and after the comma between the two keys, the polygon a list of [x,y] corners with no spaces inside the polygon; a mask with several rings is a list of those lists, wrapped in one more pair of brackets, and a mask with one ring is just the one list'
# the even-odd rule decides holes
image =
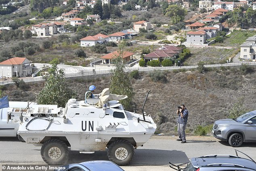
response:
{"label": "low orange-roofed house partly hidden by treetop above the UN vehicle", "polygon": [[[123,60],[129,62],[130,60],[133,59],[132,55],[134,55],[134,53],[132,52],[128,52],[128,51],[124,51],[124,53],[121,55]],[[102,64],[112,64],[112,60],[116,57],[119,56],[119,52],[115,51],[115,52],[111,52],[107,55],[102,56]]]}

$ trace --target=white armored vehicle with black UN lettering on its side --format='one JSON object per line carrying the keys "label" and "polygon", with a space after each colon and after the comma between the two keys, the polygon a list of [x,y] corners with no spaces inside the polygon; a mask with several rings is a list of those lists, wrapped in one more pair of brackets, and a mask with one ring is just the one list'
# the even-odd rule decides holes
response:
{"label": "white armored vehicle with black UN lettering on its side", "polygon": [[69,99],[65,109],[34,105],[21,117],[18,134],[27,143],[42,146],[42,159],[49,165],[67,164],[68,147],[80,153],[107,147],[110,161],[127,165],[134,156],[134,148],[154,134],[156,124],[143,111],[147,97],[141,108],[143,114],[137,114],[124,110],[117,100],[109,101],[112,94],[105,96],[106,92],[109,89],[99,99],[87,99],[90,104]]}

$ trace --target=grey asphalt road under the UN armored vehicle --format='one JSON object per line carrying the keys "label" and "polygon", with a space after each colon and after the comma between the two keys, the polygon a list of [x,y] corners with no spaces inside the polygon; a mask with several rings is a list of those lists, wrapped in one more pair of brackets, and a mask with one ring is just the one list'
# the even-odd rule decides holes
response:
{"label": "grey asphalt road under the UN armored vehicle", "polygon": [[[185,163],[191,157],[210,154],[235,155],[234,148],[225,142],[213,137],[187,137],[187,143],[176,141],[177,137],[153,136],[135,150],[135,157],[129,166],[122,167],[126,171],[172,171],[168,166],[172,163]],[[237,148],[256,160],[255,143],[246,143]],[[40,156],[40,147],[19,142],[16,138],[0,138],[0,163],[1,164],[45,164]],[[80,154],[70,151],[69,163],[79,163],[91,160],[108,160],[107,152],[100,151],[94,154]],[[1,170],[1,169],[0,169]]]}

